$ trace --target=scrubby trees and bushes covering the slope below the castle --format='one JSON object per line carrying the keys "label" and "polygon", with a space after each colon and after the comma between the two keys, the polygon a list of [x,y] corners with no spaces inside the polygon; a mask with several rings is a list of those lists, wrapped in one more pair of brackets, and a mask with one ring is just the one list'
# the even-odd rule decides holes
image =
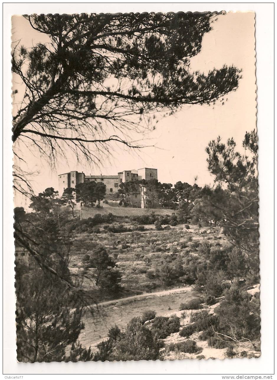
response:
{"label": "scrubby trees and bushes covering the slope below the castle", "polygon": [[[123,219],[99,213],[78,220],[71,190],[58,198],[53,188],[32,197],[32,212],[15,209],[16,242],[30,253],[29,267],[22,264],[16,272],[19,360],[157,359],[173,351],[198,355],[202,341],[229,357],[259,355],[260,303],[247,291],[259,281],[255,144],[255,133],[247,134],[246,158],[234,154],[232,141],[227,146],[211,142],[208,161],[216,188],[179,182],[172,215],[151,212]],[[235,202],[239,207],[228,217]],[[198,292],[179,306],[185,325],[180,317],[155,316],[150,310],[126,329],[115,327],[94,353],[79,343],[87,304],[184,285]],[[145,326],[148,317],[151,324]],[[59,334],[45,346],[49,326]],[[172,334],[184,342],[163,348],[162,340]]]}

